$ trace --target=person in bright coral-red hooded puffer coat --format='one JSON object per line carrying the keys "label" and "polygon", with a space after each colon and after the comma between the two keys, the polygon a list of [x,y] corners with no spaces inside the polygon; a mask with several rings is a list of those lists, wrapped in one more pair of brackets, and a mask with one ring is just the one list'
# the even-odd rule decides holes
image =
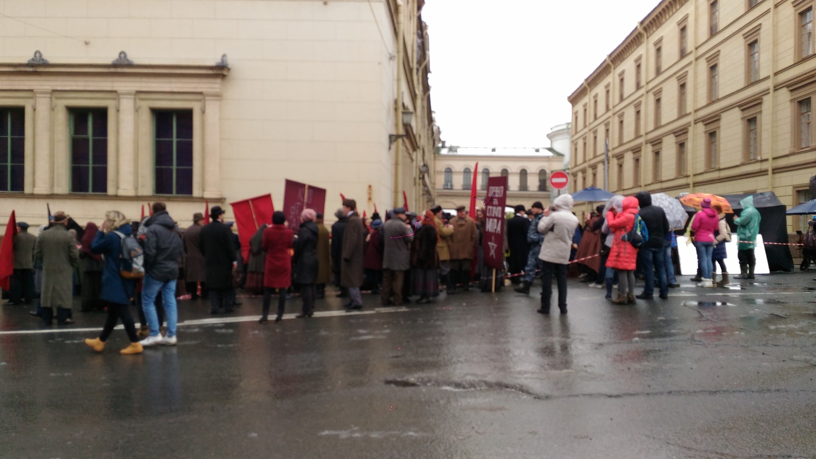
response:
{"label": "person in bright coral-red hooded puffer coat", "polygon": [[622,240],[623,236],[635,226],[635,217],[639,207],[637,198],[628,196],[623,199],[623,212],[618,213],[614,207],[606,212],[606,222],[614,231],[612,250],[606,265],[618,271],[618,297],[612,301],[616,305],[635,304],[635,268],[637,267],[637,249],[632,243]]}

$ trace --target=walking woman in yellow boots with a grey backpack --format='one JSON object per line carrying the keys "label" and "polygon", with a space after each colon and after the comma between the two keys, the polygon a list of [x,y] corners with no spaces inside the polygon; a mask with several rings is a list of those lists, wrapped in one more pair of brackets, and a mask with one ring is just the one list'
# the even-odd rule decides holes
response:
{"label": "walking woman in yellow boots with a grey backpack", "polygon": [[[130,303],[135,289],[135,279],[126,279],[123,273],[132,273],[133,268],[127,260],[128,255],[124,241],[131,240],[133,230],[131,222],[128,221],[122,212],[105,212],[105,221],[102,228],[96,233],[96,237],[91,243],[91,252],[104,257],[104,270],[102,271],[102,299],[107,302],[108,317],[105,319],[104,327],[100,336],[94,339],[86,339],[85,344],[96,352],[104,350],[104,343],[108,341],[110,333],[116,327],[118,320],[122,320],[128,339],[131,344],[119,351],[120,354],[140,354],[142,345],[136,337],[136,328],[131,317]],[[136,243],[138,247],[138,243]],[[140,255],[140,252],[138,252]],[[138,269],[138,267],[137,267]]]}

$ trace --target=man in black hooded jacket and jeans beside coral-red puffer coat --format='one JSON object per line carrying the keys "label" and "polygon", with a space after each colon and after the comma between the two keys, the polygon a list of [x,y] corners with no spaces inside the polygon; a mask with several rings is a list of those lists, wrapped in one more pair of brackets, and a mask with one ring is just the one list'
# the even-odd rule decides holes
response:
{"label": "man in black hooded jacket and jeans beside coral-red puffer coat", "polygon": [[638,214],[649,230],[649,240],[641,246],[637,256],[640,258],[643,267],[643,277],[645,286],[643,293],[637,296],[641,300],[654,299],[654,270],[658,271],[660,283],[660,297],[663,300],[668,298],[668,283],[666,279],[666,266],[663,265],[663,238],[669,232],[668,219],[663,209],[652,205],[652,195],[648,191],[641,191],[636,194],[641,210]]}

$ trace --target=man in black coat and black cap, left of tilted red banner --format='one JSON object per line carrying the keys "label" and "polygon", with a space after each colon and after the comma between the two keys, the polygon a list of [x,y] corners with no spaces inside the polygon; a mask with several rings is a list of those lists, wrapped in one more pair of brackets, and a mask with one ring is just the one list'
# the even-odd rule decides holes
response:
{"label": "man in black coat and black cap, left of tilted red banner", "polygon": [[210,292],[210,314],[233,312],[233,270],[236,257],[233,232],[224,225],[224,210],[215,206],[210,210],[211,223],[204,226],[198,248],[204,256],[206,286]]}

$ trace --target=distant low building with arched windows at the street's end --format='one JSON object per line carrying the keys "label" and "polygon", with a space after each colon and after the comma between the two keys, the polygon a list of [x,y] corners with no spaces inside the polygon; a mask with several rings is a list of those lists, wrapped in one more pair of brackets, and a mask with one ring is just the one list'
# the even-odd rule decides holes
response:
{"label": "distant low building with arched windows at the street's end", "polygon": [[[469,205],[474,173],[477,174],[477,198],[486,196],[487,177],[508,176],[507,205],[530,207],[535,201],[550,203],[549,177],[553,171],[563,168],[564,155],[552,148],[459,147],[442,149],[436,163],[437,203],[442,207]],[[478,170],[474,171],[476,163]]]}

